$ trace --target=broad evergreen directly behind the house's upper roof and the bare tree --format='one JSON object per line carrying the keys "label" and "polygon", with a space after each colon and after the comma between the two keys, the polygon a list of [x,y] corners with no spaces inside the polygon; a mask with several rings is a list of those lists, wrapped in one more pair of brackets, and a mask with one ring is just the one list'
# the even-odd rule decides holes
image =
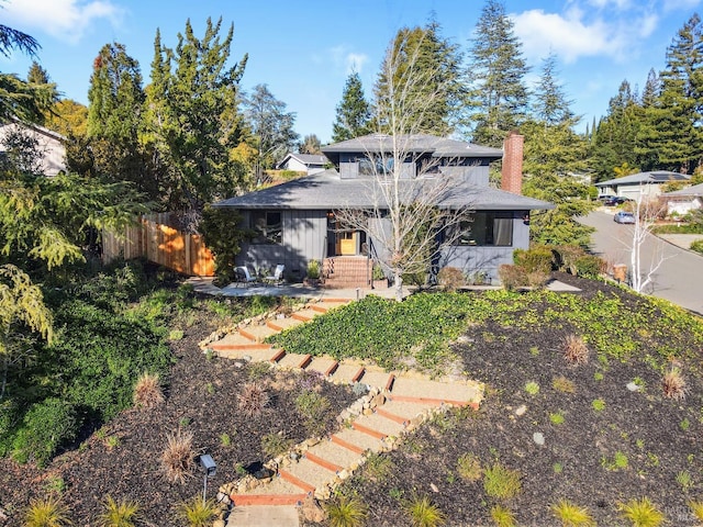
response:
{"label": "broad evergreen directly behind the house's upper roof and the bare tree", "polygon": [[[431,21],[424,27],[401,29],[389,46],[395,79],[389,82],[388,68],[382,68],[376,82],[377,108],[397,109],[397,117],[416,122],[419,133],[439,136],[450,134],[459,121],[461,85],[461,53],[456,44],[443,38],[440,26]],[[405,82],[408,77],[420,82]],[[413,89],[417,93],[392,91],[392,87]],[[424,99],[422,108],[402,105],[406,100]],[[393,130],[391,123],[380,121],[376,111],[377,126],[381,132]],[[401,116],[402,114],[402,116]],[[393,117],[391,117],[393,119]]]}

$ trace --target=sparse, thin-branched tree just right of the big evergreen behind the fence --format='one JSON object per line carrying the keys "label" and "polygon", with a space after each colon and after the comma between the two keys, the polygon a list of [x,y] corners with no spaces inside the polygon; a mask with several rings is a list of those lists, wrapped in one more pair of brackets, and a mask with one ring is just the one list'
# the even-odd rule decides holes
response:
{"label": "sparse, thin-branched tree just right of the big evergreen behind the fence", "polygon": [[286,111],[286,103],[279,101],[266,85],[257,85],[246,99],[246,117],[254,136],[257,150],[256,179],[260,184],[264,170],[295,147],[298,134],[293,130],[295,113]]}

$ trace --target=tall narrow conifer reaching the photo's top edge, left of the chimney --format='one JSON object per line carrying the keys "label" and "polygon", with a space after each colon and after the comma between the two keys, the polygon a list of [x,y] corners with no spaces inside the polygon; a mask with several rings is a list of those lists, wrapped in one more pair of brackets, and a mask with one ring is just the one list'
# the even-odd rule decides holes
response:
{"label": "tall narrow conifer reaching the photo's top edge, left of the chimney", "polygon": [[487,0],[469,52],[468,102],[476,143],[500,147],[505,133],[524,121],[528,71],[505,7],[500,0]]}

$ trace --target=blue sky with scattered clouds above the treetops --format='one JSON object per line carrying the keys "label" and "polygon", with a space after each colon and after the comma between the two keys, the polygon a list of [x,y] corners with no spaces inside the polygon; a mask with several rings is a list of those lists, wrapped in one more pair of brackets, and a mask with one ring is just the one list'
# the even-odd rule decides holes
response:
{"label": "blue sky with scattered clouds above the treetops", "polygon": [[[38,57],[67,98],[88,102],[92,60],[120,42],[137,59],[145,82],[154,35],[175,46],[190,18],[202,36],[208,16],[234,24],[232,60],[248,53],[242,86],[266,83],[297,113],[295,128],[327,142],[335,106],[353,67],[369,96],[383,53],[402,26],[434,16],[442,34],[468,49],[483,0],[0,0],[0,23],[40,41]],[[505,0],[524,56],[539,72],[549,51],[581,128],[603,115],[623,79],[643,87],[660,70],[677,31],[703,0]],[[0,70],[24,77],[31,60],[0,58]]]}

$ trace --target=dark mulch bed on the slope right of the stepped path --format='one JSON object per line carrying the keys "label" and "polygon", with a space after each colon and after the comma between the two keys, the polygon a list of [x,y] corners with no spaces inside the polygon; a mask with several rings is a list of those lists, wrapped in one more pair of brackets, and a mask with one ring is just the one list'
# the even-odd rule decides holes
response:
{"label": "dark mulch bed on the slope right of the stepped path", "polygon": [[[641,302],[609,284],[568,274],[558,278],[582,289],[567,294],[592,296],[603,291],[621,296],[633,311]],[[643,496],[670,525],[696,525],[687,504],[703,500],[701,350],[692,350],[696,365],[682,365],[688,394],[674,401],[662,395],[661,374],[641,360],[646,354],[607,366],[591,357],[587,365],[573,367],[562,356],[563,337],[563,328],[538,324],[532,330],[491,322],[469,328],[466,344],[455,350],[469,377],[487,383],[484,402],[478,412],[451,412],[421,427],[388,455],[394,466],[390,475],[376,478],[362,470],[346,483],[344,492],[357,494],[369,506],[367,524],[408,525],[403,503],[413,495],[428,495],[446,515],[446,525],[494,525],[490,508],[499,502],[486,494],[480,480],[467,482],[457,474],[459,456],[472,452],[483,468],[500,462],[522,475],[522,492],[502,503],[521,526],[561,525],[549,509],[559,498],[588,507],[599,525],[626,525],[618,504]],[[658,344],[666,343],[652,338],[651,346]],[[600,373],[602,380],[596,379]],[[574,383],[574,393],[553,388],[558,375]],[[636,378],[644,382],[641,392],[626,388]],[[529,381],[540,386],[536,395],[524,389]],[[595,399],[605,402],[604,410],[593,410]],[[522,405],[526,412],[518,416]],[[563,416],[562,424],[551,423],[550,414],[556,413]],[[533,439],[535,433],[544,435],[543,446]],[[683,472],[691,476],[685,489],[677,482]]]}

